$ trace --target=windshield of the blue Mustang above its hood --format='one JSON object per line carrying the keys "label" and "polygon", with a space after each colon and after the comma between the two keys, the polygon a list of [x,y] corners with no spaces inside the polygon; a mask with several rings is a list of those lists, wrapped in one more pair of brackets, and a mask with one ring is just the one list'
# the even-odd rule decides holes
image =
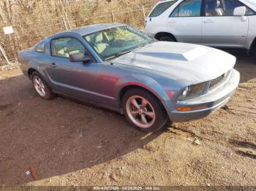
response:
{"label": "windshield of the blue Mustang above its hood", "polygon": [[103,61],[151,44],[154,39],[132,26],[119,26],[83,36]]}

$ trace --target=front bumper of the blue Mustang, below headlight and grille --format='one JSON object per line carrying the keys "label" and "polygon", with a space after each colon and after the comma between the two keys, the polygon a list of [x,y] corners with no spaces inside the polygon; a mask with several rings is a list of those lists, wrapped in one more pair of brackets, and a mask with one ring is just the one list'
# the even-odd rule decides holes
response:
{"label": "front bumper of the blue Mustang, below headlight and grille", "polygon": [[[217,88],[217,90],[201,95],[197,98],[188,99],[185,101],[165,101],[168,108],[168,115],[172,122],[187,122],[190,120],[198,120],[207,117],[209,114],[215,112],[220,107],[227,104],[227,101],[235,94],[236,88],[239,85],[240,74],[233,69],[230,77],[224,85]],[[203,109],[193,110],[189,112],[179,112],[177,107],[195,107]]]}

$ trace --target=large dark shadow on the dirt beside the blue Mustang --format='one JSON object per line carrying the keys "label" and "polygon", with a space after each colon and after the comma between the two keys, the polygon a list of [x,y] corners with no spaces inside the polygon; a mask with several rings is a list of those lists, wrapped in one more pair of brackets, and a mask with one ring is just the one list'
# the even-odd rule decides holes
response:
{"label": "large dark shadow on the dirt beside the blue Mustang", "polygon": [[5,185],[108,165],[163,133],[143,133],[121,114],[59,96],[42,100],[23,76],[0,80],[0,124],[0,184]]}

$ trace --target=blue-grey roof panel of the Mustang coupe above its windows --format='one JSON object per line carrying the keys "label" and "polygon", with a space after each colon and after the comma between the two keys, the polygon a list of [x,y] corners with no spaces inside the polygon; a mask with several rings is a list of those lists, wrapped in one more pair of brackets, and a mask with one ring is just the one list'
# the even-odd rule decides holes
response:
{"label": "blue-grey roof panel of the Mustang coupe above its windows", "polygon": [[97,24],[97,25],[91,25],[91,26],[82,26],[82,27],[78,27],[78,28],[73,28],[69,31],[63,31],[59,34],[71,32],[71,33],[79,34],[80,36],[84,36],[86,34],[91,34],[91,33],[97,32],[97,31],[105,30],[107,28],[114,28],[114,27],[118,27],[118,26],[126,26],[126,25],[125,24],[105,23],[105,24]]}

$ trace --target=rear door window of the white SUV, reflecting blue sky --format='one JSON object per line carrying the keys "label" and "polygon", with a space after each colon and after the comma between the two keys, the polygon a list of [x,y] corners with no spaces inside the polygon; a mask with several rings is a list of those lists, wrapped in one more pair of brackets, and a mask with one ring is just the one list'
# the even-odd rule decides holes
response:
{"label": "rear door window of the white SUV, reflecting blue sky", "polygon": [[202,0],[185,0],[173,10],[170,17],[200,17]]}

